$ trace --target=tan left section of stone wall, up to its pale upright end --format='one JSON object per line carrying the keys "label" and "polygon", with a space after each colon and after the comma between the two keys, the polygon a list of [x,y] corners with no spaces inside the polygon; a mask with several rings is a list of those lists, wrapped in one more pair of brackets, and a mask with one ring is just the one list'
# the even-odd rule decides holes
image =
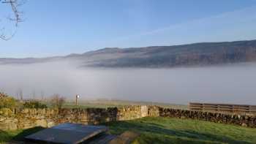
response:
{"label": "tan left section of stone wall, up to its pale upright end", "polygon": [[124,106],[74,109],[23,109],[0,110],[0,130],[29,129],[35,126],[51,127],[61,123],[99,124],[124,121],[148,116],[148,107]]}

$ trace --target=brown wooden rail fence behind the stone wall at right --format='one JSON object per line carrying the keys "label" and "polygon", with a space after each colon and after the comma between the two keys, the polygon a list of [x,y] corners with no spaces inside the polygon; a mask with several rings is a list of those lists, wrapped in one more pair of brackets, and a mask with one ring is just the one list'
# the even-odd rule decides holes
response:
{"label": "brown wooden rail fence behind the stone wall at right", "polygon": [[213,113],[233,113],[241,115],[256,115],[256,105],[230,105],[212,103],[189,103],[189,110],[213,112]]}

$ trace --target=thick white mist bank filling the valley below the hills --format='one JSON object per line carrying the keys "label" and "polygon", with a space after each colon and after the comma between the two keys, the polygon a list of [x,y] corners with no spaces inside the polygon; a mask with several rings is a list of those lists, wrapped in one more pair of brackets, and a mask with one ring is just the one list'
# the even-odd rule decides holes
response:
{"label": "thick white mist bank filling the valley below the hills", "polygon": [[225,102],[256,105],[256,64],[172,69],[78,68],[78,64],[0,65],[0,91],[24,98],[61,94],[73,99],[147,102]]}

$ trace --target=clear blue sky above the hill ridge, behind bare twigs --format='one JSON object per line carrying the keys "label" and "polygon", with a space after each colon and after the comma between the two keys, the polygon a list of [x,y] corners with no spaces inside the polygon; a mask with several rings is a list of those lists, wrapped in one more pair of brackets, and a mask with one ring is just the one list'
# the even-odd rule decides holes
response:
{"label": "clear blue sky above the hill ridge, behind bare twigs", "polygon": [[[21,9],[0,57],[256,39],[256,0],[27,0]],[[0,26],[9,14],[0,4]]]}

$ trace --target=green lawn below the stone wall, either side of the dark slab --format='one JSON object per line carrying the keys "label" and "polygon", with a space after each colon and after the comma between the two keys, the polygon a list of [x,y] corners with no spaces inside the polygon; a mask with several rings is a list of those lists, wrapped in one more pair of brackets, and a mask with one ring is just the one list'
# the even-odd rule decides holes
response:
{"label": "green lawn below the stone wall, either side of the dark slab", "polygon": [[[256,129],[177,118],[141,118],[106,123],[112,134],[140,133],[136,143],[256,143]],[[1,132],[0,143],[37,132],[40,128]]]}

